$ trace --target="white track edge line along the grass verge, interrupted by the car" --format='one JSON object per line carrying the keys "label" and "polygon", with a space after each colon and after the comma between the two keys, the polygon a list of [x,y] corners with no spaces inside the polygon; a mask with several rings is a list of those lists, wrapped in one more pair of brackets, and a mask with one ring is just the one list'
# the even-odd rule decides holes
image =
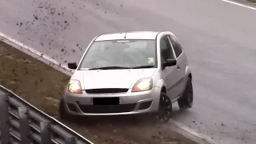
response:
{"label": "white track edge line along the grass verge, interrupted by the car", "polygon": [[[14,38],[10,38],[9,36],[7,36],[6,34],[2,34],[0,32],[0,40],[2,40],[3,42],[11,42],[11,43],[14,43],[14,47],[18,50],[21,50],[22,52],[25,52],[26,54],[35,54],[37,55],[38,57],[41,57],[43,59],[45,59],[46,61],[46,64],[49,65],[49,62],[52,62],[55,66],[53,66],[55,69],[56,69],[56,66],[59,66],[59,67],[62,67],[63,70],[69,70],[68,67],[66,65],[63,65],[62,63],[60,62],[57,62],[55,61],[53,58],[50,58],[49,56],[40,53],[38,50],[34,50],[34,48],[31,48],[29,46],[26,46],[25,44],[21,43],[21,42],[18,42],[16,41]],[[24,51],[26,50],[26,51]],[[27,53],[27,51],[29,51],[30,53]],[[33,55],[31,55],[33,56]],[[42,61],[42,59],[39,59]],[[52,66],[52,65],[50,65]],[[60,70],[57,68],[57,70]],[[60,70],[61,72],[63,72],[63,70]],[[71,76],[72,73],[69,73],[69,75]],[[211,144],[215,144],[216,142],[214,142],[211,138],[205,136],[205,135],[202,135],[202,134],[199,134],[197,133],[196,131],[190,129],[189,127],[185,126],[185,125],[182,125],[181,123],[179,122],[175,122],[174,120],[170,120],[170,122],[174,125],[174,126],[177,126],[178,128],[182,129],[182,130],[185,130],[187,133],[190,133],[192,135],[194,135],[195,137],[197,138],[201,138],[201,139],[205,139],[206,142],[209,142]],[[77,133],[76,133],[77,134]]]}

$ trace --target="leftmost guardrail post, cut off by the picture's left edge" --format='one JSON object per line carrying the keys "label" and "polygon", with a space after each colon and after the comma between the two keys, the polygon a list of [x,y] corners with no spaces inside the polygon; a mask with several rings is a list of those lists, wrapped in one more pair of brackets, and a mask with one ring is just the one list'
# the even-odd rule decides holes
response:
{"label": "leftmost guardrail post, cut off by the picture's left edge", "polygon": [[10,143],[10,124],[9,124],[9,103],[8,94],[0,92],[0,122],[1,122],[1,143]]}

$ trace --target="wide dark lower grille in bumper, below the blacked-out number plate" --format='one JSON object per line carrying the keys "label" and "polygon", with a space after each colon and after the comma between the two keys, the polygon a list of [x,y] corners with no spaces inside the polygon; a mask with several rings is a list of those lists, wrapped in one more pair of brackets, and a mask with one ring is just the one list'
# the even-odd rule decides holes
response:
{"label": "wide dark lower grille in bumper, below the blacked-out number plate", "polygon": [[122,104],[122,105],[98,105],[98,106],[88,106],[79,105],[83,113],[124,113],[134,110],[136,103],[133,104]]}

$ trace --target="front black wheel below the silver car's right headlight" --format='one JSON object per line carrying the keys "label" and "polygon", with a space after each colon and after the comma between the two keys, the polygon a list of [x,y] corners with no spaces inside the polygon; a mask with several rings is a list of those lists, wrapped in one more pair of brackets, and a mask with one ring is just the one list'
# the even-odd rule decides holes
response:
{"label": "front black wheel below the silver car's right headlight", "polygon": [[159,108],[156,119],[158,122],[169,122],[172,114],[172,102],[166,93],[160,94]]}

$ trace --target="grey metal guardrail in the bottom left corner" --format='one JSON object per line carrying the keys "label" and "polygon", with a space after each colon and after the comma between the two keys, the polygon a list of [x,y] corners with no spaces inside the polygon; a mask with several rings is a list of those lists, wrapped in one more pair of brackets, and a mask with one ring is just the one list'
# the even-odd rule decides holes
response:
{"label": "grey metal guardrail in the bottom left corner", "polygon": [[0,144],[93,144],[0,85]]}

